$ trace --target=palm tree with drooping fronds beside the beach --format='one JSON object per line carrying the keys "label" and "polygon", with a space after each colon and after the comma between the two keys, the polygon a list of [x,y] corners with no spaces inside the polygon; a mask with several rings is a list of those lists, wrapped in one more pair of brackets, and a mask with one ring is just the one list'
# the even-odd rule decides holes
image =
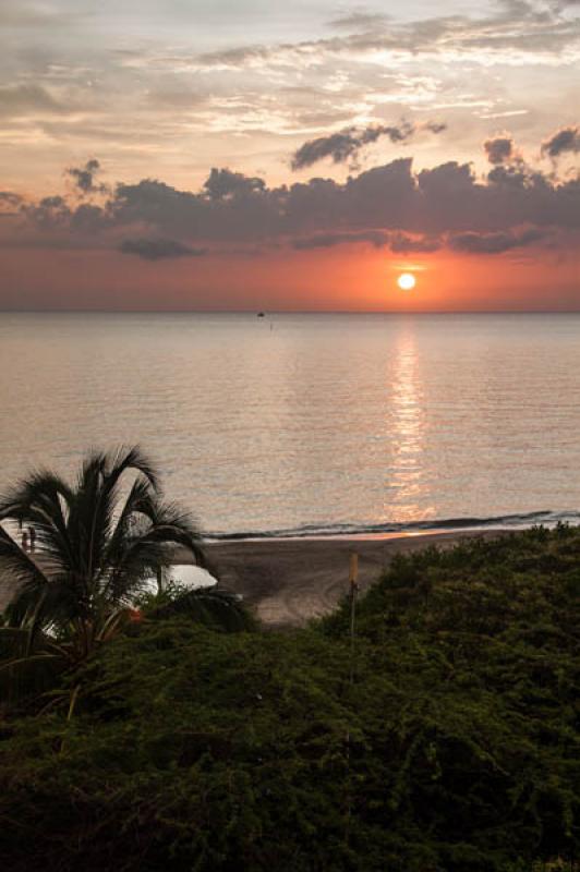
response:
{"label": "palm tree with drooping fronds beside the beach", "polygon": [[[8,532],[14,523],[35,531],[34,554]],[[14,584],[0,658],[12,651],[12,671],[47,658],[60,668],[83,662],[117,632],[176,547],[207,568],[198,529],[162,500],[157,473],[138,448],[89,453],[74,486],[52,472],[31,474],[0,499],[0,571]],[[186,595],[190,603],[195,595]],[[243,610],[231,595],[214,592],[214,621],[220,607],[225,626]]]}

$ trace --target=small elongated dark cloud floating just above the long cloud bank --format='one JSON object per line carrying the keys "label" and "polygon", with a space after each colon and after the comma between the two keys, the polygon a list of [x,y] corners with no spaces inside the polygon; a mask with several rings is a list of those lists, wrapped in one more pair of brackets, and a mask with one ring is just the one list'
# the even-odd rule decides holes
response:
{"label": "small elongated dark cloud floating just above the long cloud bank", "polygon": [[[421,125],[421,130],[428,130],[431,133],[440,133],[445,128],[445,124],[435,121],[427,121]],[[293,170],[301,170],[312,167],[313,164],[326,157],[330,157],[335,164],[343,164],[347,160],[355,159],[361,148],[375,143],[382,136],[387,136],[391,143],[404,143],[418,129],[409,121],[401,121],[399,124],[373,124],[363,129],[349,128],[328,136],[319,136],[304,143],[294,152],[291,167]]]}

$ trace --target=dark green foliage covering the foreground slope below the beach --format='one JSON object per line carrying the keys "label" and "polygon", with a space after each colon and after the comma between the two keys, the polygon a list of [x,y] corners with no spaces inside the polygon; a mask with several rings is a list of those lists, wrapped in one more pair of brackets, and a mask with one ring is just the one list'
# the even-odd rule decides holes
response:
{"label": "dark green foliage covering the foreground slope below the beach", "polygon": [[[398,559],[292,633],[185,618],[0,723],[13,872],[516,872],[580,857],[580,532]],[[537,864],[539,863],[539,864]]]}

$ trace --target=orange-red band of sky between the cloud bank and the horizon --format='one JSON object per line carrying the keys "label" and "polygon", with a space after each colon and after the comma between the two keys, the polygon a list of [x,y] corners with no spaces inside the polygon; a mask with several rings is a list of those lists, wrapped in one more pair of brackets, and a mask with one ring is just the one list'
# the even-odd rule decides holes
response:
{"label": "orange-red band of sky between the cloud bank and the horizon", "polygon": [[[8,308],[497,311],[578,306],[579,266],[438,252],[401,258],[367,246],[150,264],[102,251],[0,252]],[[397,277],[413,271],[401,291]]]}

